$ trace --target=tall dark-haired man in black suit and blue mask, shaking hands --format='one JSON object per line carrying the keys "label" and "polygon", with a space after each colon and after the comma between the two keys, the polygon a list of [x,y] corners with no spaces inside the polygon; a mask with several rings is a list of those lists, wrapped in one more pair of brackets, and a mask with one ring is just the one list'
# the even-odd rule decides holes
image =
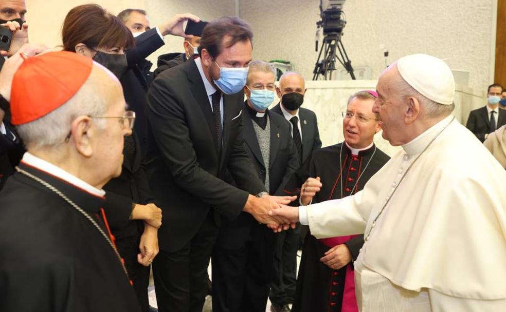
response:
{"label": "tall dark-haired man in black suit and blue mask, shaking hands", "polygon": [[[202,311],[206,271],[221,216],[241,211],[276,228],[286,220],[269,207],[295,198],[271,197],[243,146],[243,111],[252,32],[238,17],[209,23],[200,58],[162,72],[148,92],[147,169],[164,210],[153,262],[158,309]],[[230,185],[233,178],[237,187]]]}

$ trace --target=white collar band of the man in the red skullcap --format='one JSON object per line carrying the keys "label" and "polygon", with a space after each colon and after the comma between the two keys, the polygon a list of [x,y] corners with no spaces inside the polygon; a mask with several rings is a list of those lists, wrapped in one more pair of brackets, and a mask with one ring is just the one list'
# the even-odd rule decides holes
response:
{"label": "white collar band of the man in the red skullcap", "polygon": [[51,175],[54,175],[57,178],[60,178],[78,188],[81,188],[88,193],[91,193],[96,196],[103,197],[105,195],[105,191],[103,189],[98,189],[83,180],[77,178],[75,175],[72,175],[68,173],[67,171],[63,170],[60,167],[57,167],[33,154],[30,154],[29,152],[26,152],[23,155],[23,160],[25,164],[30,165],[32,167],[38,168],[44,172],[50,173]]}

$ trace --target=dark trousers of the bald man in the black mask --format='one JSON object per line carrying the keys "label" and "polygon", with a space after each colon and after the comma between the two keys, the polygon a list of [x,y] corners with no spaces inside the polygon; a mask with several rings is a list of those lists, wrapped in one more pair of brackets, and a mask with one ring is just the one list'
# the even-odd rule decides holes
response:
{"label": "dark trousers of the bald man in the black mask", "polygon": [[279,233],[274,253],[274,276],[269,299],[274,304],[294,302],[297,285],[297,249],[299,248],[300,225]]}

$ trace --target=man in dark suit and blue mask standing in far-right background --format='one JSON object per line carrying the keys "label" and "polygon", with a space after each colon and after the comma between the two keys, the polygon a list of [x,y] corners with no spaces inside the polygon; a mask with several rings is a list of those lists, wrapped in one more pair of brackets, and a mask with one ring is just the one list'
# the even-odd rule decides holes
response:
{"label": "man in dark suit and blue mask standing in far-right background", "polygon": [[506,111],[498,107],[501,93],[501,85],[490,85],[486,95],[486,105],[469,113],[466,128],[471,130],[481,142],[485,141],[490,133],[506,124]]}

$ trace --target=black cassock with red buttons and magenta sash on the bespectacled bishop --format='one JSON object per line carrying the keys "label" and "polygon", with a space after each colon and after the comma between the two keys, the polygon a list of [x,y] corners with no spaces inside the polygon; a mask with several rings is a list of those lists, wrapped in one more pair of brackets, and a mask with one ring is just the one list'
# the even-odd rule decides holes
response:
{"label": "black cassock with red buttons and magenta sash on the bespectacled bishop", "polygon": [[[362,190],[369,178],[389,159],[374,144],[356,154],[346,143],[313,151],[311,161],[306,162],[302,172],[305,172],[305,179],[320,177],[323,186],[312,203],[339,199]],[[318,240],[308,233],[304,240],[292,311],[341,311],[339,303],[342,302],[344,307],[349,305],[349,300],[355,300],[353,264],[333,270],[320,261],[325,252],[338,244],[346,244],[355,260],[364,244],[364,236]]]}

